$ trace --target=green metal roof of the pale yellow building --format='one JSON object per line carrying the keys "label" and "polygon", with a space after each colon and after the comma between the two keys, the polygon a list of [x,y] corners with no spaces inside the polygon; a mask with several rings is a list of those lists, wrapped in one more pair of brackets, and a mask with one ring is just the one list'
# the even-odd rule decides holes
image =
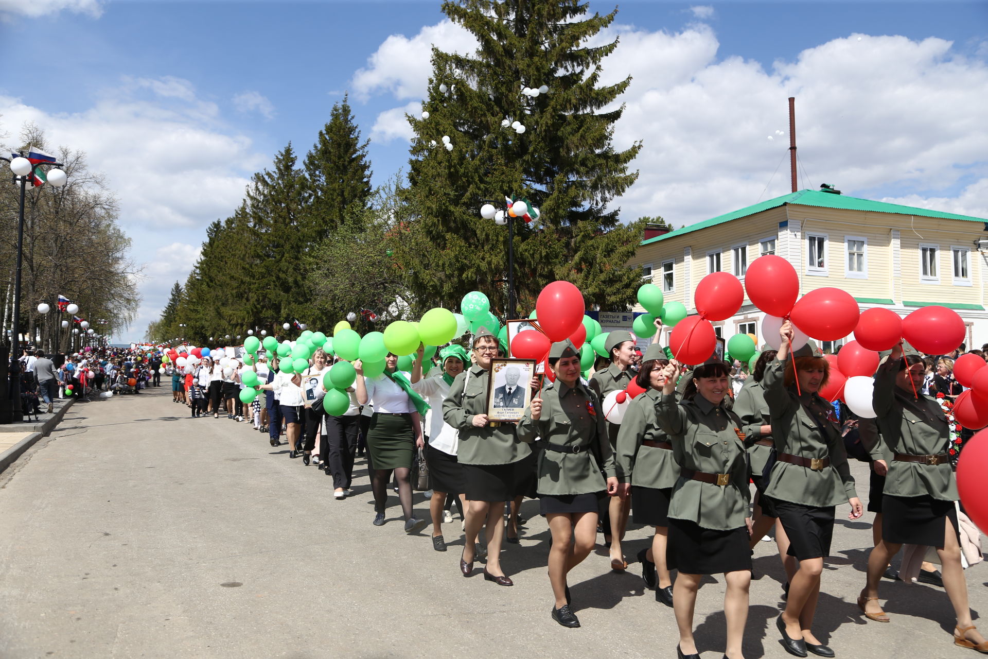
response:
{"label": "green metal roof of the pale yellow building", "polygon": [[867,212],[894,212],[903,215],[918,215],[920,217],[963,219],[971,222],[988,222],[988,219],[983,217],[971,217],[970,215],[958,215],[952,212],[942,212],[940,210],[930,210],[928,208],[873,202],[871,200],[859,199],[857,197],[848,197],[847,195],[824,193],[818,190],[800,190],[788,195],[782,195],[782,197],[777,197],[776,199],[760,202],[759,204],[755,204],[753,206],[745,206],[744,208],[740,208],[738,210],[725,212],[722,215],[704,219],[694,224],[681,226],[675,231],[670,231],[669,233],[665,233],[661,236],[655,236],[654,238],[649,238],[648,240],[642,240],[641,244],[648,245],[659,240],[665,240],[666,238],[673,238],[692,231],[699,231],[700,229],[705,229],[709,226],[723,224],[724,222],[729,222],[730,220],[738,219],[739,217],[754,215],[756,212],[768,210],[769,208],[777,208],[779,206],[786,206],[789,204],[798,206],[818,206],[821,208],[839,208],[843,210],[864,210]]}

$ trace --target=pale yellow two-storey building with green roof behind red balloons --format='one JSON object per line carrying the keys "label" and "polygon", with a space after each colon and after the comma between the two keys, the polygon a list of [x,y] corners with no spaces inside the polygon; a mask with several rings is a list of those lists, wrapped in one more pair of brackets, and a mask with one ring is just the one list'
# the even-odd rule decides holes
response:
{"label": "pale yellow two-storey building with green roof behind red balloons", "polygon": [[[694,292],[711,272],[744,281],[748,264],[777,254],[799,276],[800,294],[843,288],[861,309],[884,306],[900,316],[921,306],[954,309],[967,324],[966,346],[988,343],[988,219],[872,202],[824,190],[800,190],[646,238],[630,265],[665,298],[696,312]],[[635,311],[642,311],[635,307]],[[745,298],[718,336],[752,333],[763,343],[765,314]],[[668,332],[663,345],[668,345]],[[826,342],[824,349],[853,339]]]}

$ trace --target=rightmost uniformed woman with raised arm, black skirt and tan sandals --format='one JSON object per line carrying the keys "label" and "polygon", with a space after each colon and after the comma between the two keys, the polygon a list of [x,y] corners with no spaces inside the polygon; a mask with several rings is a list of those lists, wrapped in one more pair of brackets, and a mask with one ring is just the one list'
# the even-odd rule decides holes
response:
{"label": "rightmost uniformed woman with raised arm, black skirt and tan sandals", "polygon": [[881,540],[868,556],[867,583],[858,606],[865,617],[887,622],[878,606],[878,582],[889,560],[904,543],[937,547],[944,588],[957,617],[953,642],[988,653],[988,641],[971,621],[960,563],[953,503],[957,483],[950,467],[947,417],[935,398],[916,393],[922,391],[923,376],[922,359],[903,357],[901,346],[892,350],[875,376],[874,411],[892,461],[876,460],[887,466]]}

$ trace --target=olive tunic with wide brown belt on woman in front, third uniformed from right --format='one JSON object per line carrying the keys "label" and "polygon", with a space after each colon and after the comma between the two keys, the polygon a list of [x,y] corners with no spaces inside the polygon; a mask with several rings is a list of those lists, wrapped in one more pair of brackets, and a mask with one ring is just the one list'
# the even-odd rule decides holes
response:
{"label": "olive tunic with wide brown belt on woman in front, third uniformed from right", "polygon": [[737,424],[723,405],[700,394],[678,403],[661,394],[657,418],[668,431],[676,462],[686,469],[730,475],[727,485],[704,483],[680,475],[673,486],[669,517],[703,529],[733,531],[748,516],[748,460]]}

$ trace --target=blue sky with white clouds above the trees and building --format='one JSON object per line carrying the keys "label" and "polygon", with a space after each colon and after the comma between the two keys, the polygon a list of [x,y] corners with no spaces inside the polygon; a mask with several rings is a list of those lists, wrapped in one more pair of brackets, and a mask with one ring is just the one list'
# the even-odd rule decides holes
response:
{"label": "blue sky with white clouds above the trees and building", "polygon": [[[469,43],[418,0],[0,0],[0,17],[0,130],[14,136],[0,142],[30,120],[85,149],[147,264],[124,340],[185,280],[206,224],[289,140],[304,154],[344,90],[375,183],[404,167],[428,43]],[[615,35],[606,78],[634,75],[616,142],[645,143],[616,201],[626,217],[679,225],[787,192],[784,165],[772,174],[788,95],[801,185],[988,216],[988,3],[624,2]]]}

